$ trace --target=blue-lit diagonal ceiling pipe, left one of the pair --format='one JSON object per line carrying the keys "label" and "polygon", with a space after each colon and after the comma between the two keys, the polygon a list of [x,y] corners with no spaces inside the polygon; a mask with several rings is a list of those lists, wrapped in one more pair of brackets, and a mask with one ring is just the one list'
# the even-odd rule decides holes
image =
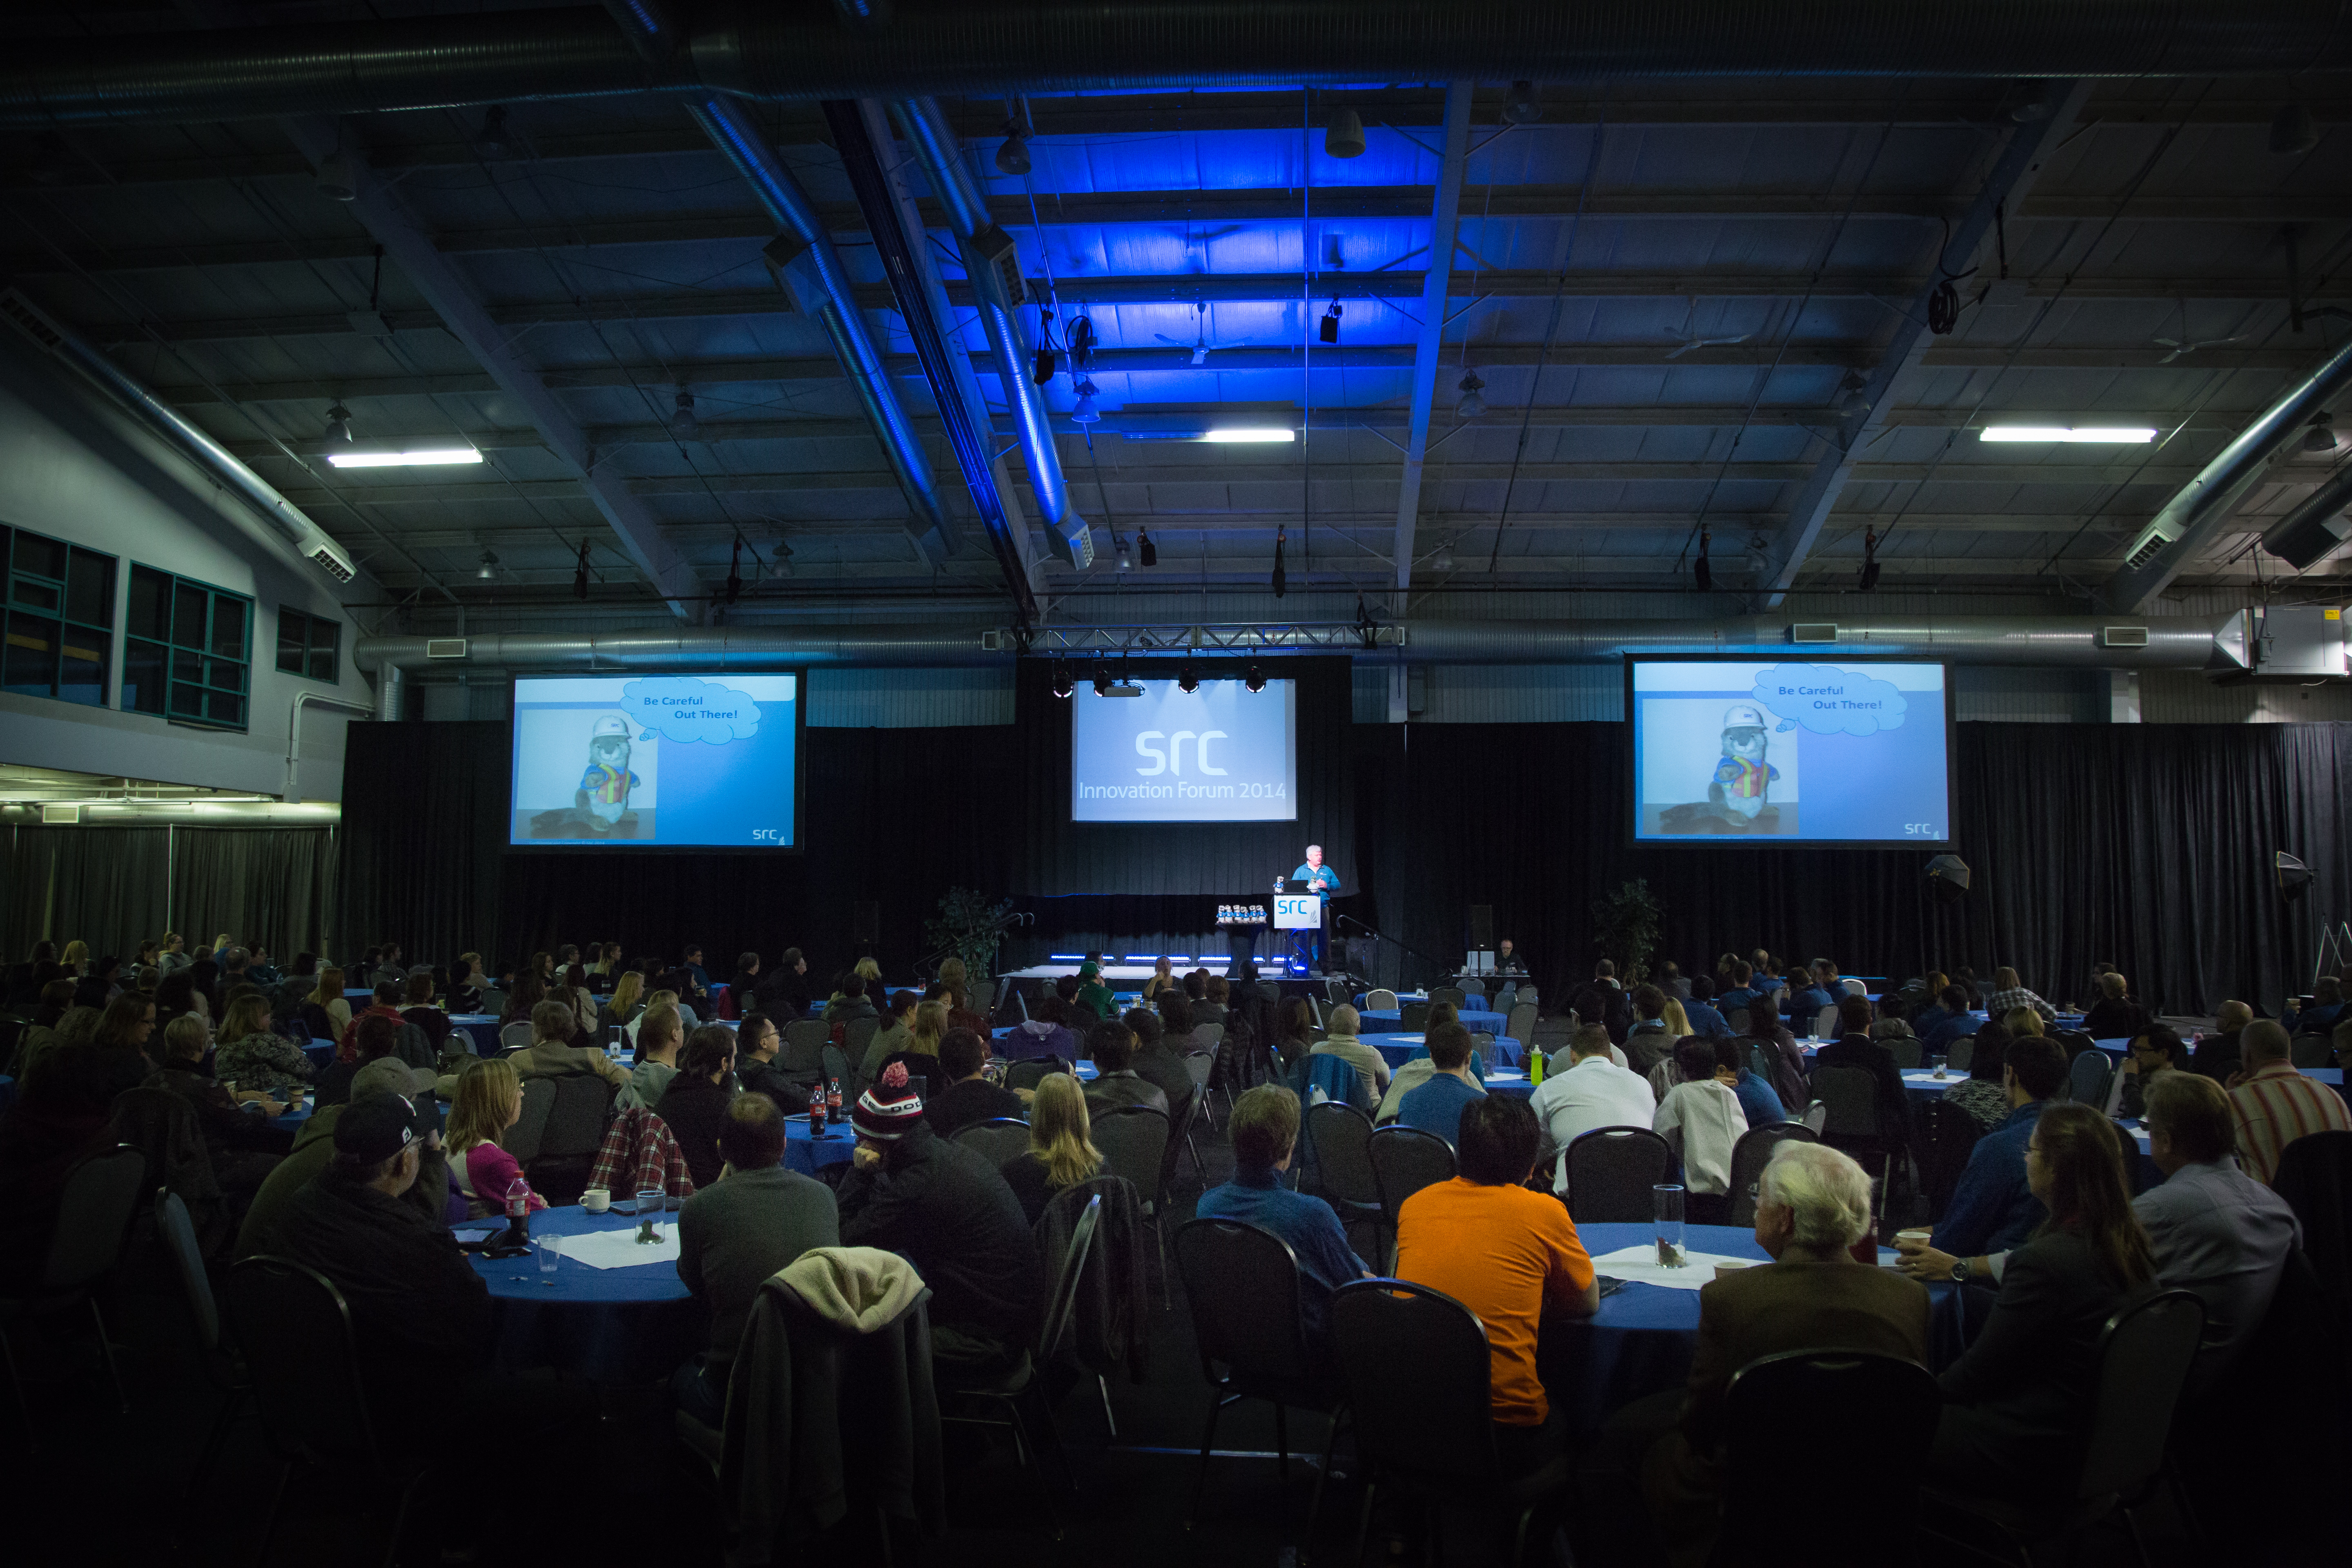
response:
{"label": "blue-lit diagonal ceiling pipe, left one of the pair", "polygon": [[[604,9],[621,24],[647,66],[659,71],[680,52],[680,33],[670,26],[659,0],[604,0]],[[882,350],[875,348],[873,334],[866,329],[849,270],[842,266],[842,254],[833,249],[833,233],[816,216],[809,193],[767,146],[741,103],[706,92],[687,99],[687,113],[753,188],[767,216],[793,235],[790,242],[779,240],[769,247],[769,263],[802,315],[823,324],[826,336],[833,339],[833,355],[856,388],[866,421],[873,425],[875,440],[882,442],[882,456],[889,458],[898,489],[915,510],[910,531],[917,536],[917,545],[934,562],[941,555],[955,555],[955,524],[941,508],[931,458],[924,456],[922,437],[915,435],[915,425],[898,402],[898,388],[891,386],[889,371],[882,367]],[[779,249],[786,254],[779,256]]]}

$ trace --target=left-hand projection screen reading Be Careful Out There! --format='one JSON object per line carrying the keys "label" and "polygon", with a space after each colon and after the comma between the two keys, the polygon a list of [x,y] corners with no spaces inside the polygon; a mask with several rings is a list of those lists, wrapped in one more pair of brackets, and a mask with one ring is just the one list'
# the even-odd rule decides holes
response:
{"label": "left-hand projection screen reading Be Careful Out There!", "polygon": [[800,675],[515,682],[513,849],[797,849]]}

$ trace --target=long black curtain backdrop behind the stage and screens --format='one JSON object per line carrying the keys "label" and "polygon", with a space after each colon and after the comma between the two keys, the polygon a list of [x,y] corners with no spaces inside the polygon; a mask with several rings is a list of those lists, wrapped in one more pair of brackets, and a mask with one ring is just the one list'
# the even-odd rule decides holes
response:
{"label": "long black curtain backdrop behind the stage and screens", "polygon": [[[442,957],[699,940],[715,966],[743,945],[800,945],[830,971],[856,954],[870,900],[873,950],[898,976],[962,884],[1018,900],[1030,924],[1011,961],[1221,952],[1218,896],[1263,891],[1319,839],[1350,886],[1343,912],[1451,959],[1468,905],[1489,903],[1555,994],[1597,957],[1592,900],[1646,877],[1665,903],[1661,957],[1684,966],[1757,945],[1851,973],[2016,964],[2072,997],[2112,959],[2161,1006],[2211,1011],[2225,997],[2277,1009],[2310,978],[2317,914],[2352,910],[2343,724],[1962,724],[1957,835],[1976,886],[1945,910],[1926,851],[1630,849],[1623,724],[1352,726],[1345,665],[1329,663],[1284,665],[1308,682],[1301,823],[1073,825],[1068,708],[1030,661],[1014,726],[807,731],[800,856],[508,856],[506,724],[353,724],[346,943],[397,933]],[[2274,849],[2317,877],[2293,910],[2272,893]],[[1383,947],[1385,978],[1425,969]]]}

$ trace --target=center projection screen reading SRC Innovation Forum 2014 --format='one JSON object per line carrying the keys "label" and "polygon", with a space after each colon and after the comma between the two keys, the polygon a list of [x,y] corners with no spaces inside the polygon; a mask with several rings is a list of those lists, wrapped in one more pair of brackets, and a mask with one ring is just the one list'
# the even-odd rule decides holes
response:
{"label": "center projection screen reading SRC Innovation Forum 2014", "polygon": [[1298,820],[1298,682],[1136,682],[1070,693],[1073,823]]}

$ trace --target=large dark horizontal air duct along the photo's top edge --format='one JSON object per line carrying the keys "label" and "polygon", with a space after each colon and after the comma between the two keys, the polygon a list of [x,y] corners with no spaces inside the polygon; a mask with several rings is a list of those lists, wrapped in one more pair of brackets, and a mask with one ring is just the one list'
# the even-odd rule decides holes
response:
{"label": "large dark horizontal air duct along the photo's top edge", "polygon": [[[623,9],[652,12],[647,0],[623,0]],[[2303,78],[2352,68],[2352,28],[2338,0],[908,0],[889,12],[882,26],[851,28],[835,7],[710,7],[696,19],[691,47],[680,40],[654,59],[597,7],[19,38],[0,68],[0,125],[259,120],[637,92],[807,101],[1247,82],[1559,82],[1590,78],[1595,61],[1618,78]]]}

